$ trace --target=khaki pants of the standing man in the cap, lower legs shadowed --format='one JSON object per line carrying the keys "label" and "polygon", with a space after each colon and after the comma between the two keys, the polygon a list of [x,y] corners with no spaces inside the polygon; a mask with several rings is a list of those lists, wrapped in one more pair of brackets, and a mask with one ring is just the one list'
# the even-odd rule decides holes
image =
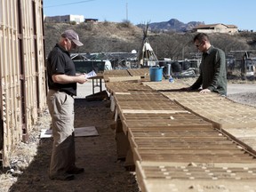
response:
{"label": "khaki pants of the standing man in the cap, lower legs shadowed", "polygon": [[65,92],[50,90],[47,105],[52,116],[50,176],[67,172],[75,165],[74,99]]}

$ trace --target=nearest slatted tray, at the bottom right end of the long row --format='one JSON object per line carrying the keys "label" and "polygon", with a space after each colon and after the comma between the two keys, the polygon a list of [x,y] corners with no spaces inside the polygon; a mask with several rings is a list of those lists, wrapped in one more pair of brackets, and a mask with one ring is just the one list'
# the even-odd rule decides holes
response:
{"label": "nearest slatted tray, at the bottom right end of the long row", "polygon": [[250,172],[255,172],[255,164],[136,162],[138,183],[141,191],[147,192],[200,191],[203,186],[216,186],[216,190],[253,191],[255,174]]}

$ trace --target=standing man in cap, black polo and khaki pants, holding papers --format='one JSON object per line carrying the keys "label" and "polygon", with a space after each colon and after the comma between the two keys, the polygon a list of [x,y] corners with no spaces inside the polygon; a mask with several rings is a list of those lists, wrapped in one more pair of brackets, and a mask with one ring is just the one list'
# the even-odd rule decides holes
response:
{"label": "standing man in cap, black polo and khaki pants, holding papers", "polygon": [[52,116],[53,135],[49,177],[52,180],[74,180],[74,174],[84,172],[84,168],[75,164],[73,96],[76,96],[76,83],[84,84],[87,79],[84,75],[76,75],[69,54],[82,45],[74,30],[66,30],[47,58],[47,105]]}

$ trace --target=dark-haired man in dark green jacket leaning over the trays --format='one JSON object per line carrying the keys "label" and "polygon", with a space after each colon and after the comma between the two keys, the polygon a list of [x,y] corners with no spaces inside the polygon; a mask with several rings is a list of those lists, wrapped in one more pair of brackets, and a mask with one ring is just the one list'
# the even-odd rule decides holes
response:
{"label": "dark-haired man in dark green jacket leaning over the trays", "polygon": [[187,91],[199,90],[200,93],[217,92],[220,95],[227,96],[227,70],[225,53],[213,47],[209,36],[199,33],[194,37],[196,48],[203,52],[200,64],[200,76],[196,82],[188,88]]}

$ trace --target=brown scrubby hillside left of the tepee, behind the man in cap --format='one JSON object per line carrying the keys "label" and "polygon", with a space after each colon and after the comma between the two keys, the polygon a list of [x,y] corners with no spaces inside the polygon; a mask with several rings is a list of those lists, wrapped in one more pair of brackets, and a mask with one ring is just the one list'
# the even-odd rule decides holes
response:
{"label": "brown scrubby hillside left of the tepee, behind the man in cap", "polygon": [[46,55],[58,42],[61,32],[74,29],[84,46],[79,52],[132,52],[139,50],[143,39],[142,29],[129,22],[99,22],[81,23],[45,23],[45,52]]}

